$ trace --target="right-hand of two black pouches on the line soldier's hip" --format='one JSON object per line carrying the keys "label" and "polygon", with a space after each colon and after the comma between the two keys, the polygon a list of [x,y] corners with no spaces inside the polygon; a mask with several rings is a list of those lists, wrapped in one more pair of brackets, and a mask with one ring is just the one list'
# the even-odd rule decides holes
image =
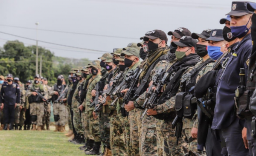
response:
{"label": "right-hand of two black pouches on the line soldier's hip", "polygon": [[[184,118],[192,119],[197,110],[196,101],[192,101],[194,95],[188,94],[184,97],[183,100],[183,116]],[[175,104],[176,105],[176,104]]]}

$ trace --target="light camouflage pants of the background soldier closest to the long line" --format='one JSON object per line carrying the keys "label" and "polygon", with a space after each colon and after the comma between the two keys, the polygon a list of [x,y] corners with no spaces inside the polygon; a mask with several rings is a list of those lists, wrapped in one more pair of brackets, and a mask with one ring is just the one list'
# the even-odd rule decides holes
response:
{"label": "light camouflage pants of the background soldier closest to the long line", "polygon": [[66,121],[66,106],[64,104],[53,104],[53,115],[59,116],[60,119],[55,121],[55,125],[65,126]]}

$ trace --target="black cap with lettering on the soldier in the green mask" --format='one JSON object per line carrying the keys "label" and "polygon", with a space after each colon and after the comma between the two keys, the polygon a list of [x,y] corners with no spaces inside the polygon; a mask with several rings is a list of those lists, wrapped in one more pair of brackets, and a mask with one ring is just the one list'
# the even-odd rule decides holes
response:
{"label": "black cap with lettering on the soldier in the green mask", "polygon": [[178,42],[172,42],[172,46],[177,47],[195,47],[196,43],[198,43],[197,40],[193,39],[191,36],[182,36]]}

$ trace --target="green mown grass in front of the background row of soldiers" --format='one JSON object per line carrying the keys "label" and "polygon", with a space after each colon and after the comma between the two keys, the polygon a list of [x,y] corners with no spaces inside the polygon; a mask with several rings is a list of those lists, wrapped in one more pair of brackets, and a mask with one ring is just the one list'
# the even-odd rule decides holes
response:
{"label": "green mown grass in front of the background row of soldiers", "polygon": [[[64,133],[31,130],[1,130],[0,156],[85,156],[81,145],[68,142]],[[67,129],[67,128],[66,128]]]}

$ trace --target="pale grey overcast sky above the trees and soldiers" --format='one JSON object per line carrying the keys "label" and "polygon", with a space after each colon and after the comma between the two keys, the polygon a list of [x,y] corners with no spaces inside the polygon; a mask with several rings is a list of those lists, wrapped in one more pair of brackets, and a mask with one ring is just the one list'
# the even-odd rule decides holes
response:
{"label": "pale grey overcast sky above the trees and soldiers", "polygon": [[[0,0],[0,32],[26,38],[112,52],[140,42],[145,32],[186,27],[191,32],[222,29],[219,20],[231,10],[232,0]],[[17,27],[32,29],[22,29]],[[63,32],[74,32],[63,33]],[[81,34],[76,34],[81,33]],[[87,35],[85,35],[87,34]],[[89,35],[90,34],[90,35]],[[170,41],[170,36],[168,36]],[[35,41],[0,33],[6,40]],[[168,41],[168,44],[169,44]],[[74,49],[39,42],[57,56],[97,59],[104,52]]]}

